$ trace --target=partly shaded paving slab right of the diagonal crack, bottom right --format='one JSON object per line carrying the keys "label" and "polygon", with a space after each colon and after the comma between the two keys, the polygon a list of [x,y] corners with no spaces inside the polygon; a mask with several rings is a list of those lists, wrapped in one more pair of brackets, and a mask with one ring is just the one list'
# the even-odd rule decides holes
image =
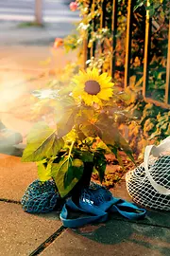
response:
{"label": "partly shaded paving slab right of the diagonal crack, bottom right", "polygon": [[43,256],[169,256],[170,229],[114,220],[99,226],[67,229]]}

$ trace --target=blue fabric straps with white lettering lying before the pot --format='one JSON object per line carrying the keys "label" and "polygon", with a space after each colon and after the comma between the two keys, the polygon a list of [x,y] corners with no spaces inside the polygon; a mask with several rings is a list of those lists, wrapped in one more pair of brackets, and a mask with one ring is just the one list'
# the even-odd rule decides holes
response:
{"label": "blue fabric straps with white lettering lying before the pot", "polygon": [[[73,212],[80,213],[80,216],[71,218]],[[105,222],[112,212],[118,212],[129,220],[139,220],[144,218],[146,210],[115,198],[104,187],[91,183],[89,189],[82,190],[77,204],[72,198],[67,199],[59,217],[64,227],[78,228],[90,223]]]}

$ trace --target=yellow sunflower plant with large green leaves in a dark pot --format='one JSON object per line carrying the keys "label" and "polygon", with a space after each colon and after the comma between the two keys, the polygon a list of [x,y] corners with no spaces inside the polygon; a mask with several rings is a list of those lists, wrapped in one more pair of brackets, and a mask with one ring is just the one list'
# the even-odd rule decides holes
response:
{"label": "yellow sunflower plant with large green leaves in a dark pot", "polygon": [[133,159],[116,127],[121,111],[115,110],[115,102],[121,94],[108,73],[99,74],[96,68],[79,71],[68,87],[47,91],[46,97],[56,104],[56,126],[37,123],[27,136],[22,159],[37,162],[40,180],[53,178],[61,197],[72,194],[76,200],[90,185],[93,170],[103,181],[106,153],[121,162],[122,150]]}

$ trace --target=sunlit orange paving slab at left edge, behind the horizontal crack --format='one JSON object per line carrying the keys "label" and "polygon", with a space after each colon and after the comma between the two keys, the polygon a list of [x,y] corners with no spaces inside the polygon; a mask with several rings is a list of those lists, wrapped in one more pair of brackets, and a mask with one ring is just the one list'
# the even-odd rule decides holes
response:
{"label": "sunlit orange paving slab at left edge, behind the horizontal crack", "polygon": [[38,178],[35,163],[21,157],[0,154],[0,198],[20,201],[27,186]]}

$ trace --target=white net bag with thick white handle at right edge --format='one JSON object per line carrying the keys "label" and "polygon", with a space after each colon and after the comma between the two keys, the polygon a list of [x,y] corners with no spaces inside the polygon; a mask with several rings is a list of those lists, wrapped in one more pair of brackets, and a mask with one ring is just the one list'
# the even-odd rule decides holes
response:
{"label": "white net bag with thick white handle at right edge", "polygon": [[170,210],[170,137],[146,146],[144,163],[126,175],[133,201],[153,210]]}

